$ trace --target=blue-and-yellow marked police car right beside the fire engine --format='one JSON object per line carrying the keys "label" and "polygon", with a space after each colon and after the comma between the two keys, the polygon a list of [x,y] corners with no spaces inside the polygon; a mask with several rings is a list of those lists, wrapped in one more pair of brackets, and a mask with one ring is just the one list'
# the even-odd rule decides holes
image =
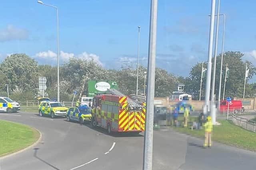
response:
{"label": "blue-and-yellow marked police car right beside the fire engine", "polygon": [[79,121],[80,124],[84,124],[85,121],[91,121],[92,114],[91,109],[87,105],[70,107],[66,115],[67,121]]}

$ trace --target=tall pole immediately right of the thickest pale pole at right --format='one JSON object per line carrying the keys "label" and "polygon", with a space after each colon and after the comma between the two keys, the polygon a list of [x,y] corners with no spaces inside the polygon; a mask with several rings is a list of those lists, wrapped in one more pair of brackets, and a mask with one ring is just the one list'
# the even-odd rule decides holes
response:
{"label": "tall pole immediately right of the thickest pale pole at right", "polygon": [[212,76],[212,99],[211,99],[211,116],[212,123],[216,123],[216,110],[214,109],[214,92],[215,92],[215,75],[216,75],[216,61],[217,61],[217,47],[218,47],[218,33],[219,33],[219,14],[220,14],[220,0],[218,0],[218,12],[217,12],[217,23],[216,23],[216,37],[215,37],[215,48],[214,48],[214,65],[213,65],[213,76]]}

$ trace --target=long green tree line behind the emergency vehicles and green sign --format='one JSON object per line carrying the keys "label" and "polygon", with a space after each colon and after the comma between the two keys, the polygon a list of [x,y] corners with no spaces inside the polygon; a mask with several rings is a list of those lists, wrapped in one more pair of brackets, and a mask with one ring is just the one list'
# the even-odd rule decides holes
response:
{"label": "long green tree line behind the emergency vehicles and green sign", "polygon": [[[144,92],[144,72],[139,66],[139,93]],[[0,95],[7,96],[5,84],[9,84],[10,97],[14,100],[35,100],[41,96],[38,90],[38,76],[47,79],[46,95],[57,97],[57,67],[39,65],[26,54],[13,54],[0,64]],[[134,94],[136,90],[137,70],[132,66],[119,70],[106,69],[93,60],[70,58],[60,65],[60,99],[71,100],[74,91],[85,94],[88,80],[116,80],[120,91]],[[156,68],[156,96],[169,96],[177,83],[177,77],[166,70]]]}

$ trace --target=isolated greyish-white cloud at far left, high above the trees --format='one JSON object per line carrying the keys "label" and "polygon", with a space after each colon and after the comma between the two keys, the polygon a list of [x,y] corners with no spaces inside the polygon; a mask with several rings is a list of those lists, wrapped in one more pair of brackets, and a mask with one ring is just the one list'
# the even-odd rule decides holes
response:
{"label": "isolated greyish-white cloud at far left, high above the trees", "polygon": [[0,30],[0,41],[23,40],[28,38],[28,31],[22,28],[16,28],[13,25],[7,25]]}

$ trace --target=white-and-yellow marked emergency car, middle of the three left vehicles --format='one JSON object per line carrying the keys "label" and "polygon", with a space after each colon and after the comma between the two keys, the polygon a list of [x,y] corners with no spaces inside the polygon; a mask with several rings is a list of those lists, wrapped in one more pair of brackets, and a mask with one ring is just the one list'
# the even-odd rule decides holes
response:
{"label": "white-and-yellow marked emergency car, middle of the three left vehicles", "polygon": [[52,118],[57,116],[66,116],[68,107],[63,106],[60,102],[44,101],[39,105],[39,116],[50,115]]}

